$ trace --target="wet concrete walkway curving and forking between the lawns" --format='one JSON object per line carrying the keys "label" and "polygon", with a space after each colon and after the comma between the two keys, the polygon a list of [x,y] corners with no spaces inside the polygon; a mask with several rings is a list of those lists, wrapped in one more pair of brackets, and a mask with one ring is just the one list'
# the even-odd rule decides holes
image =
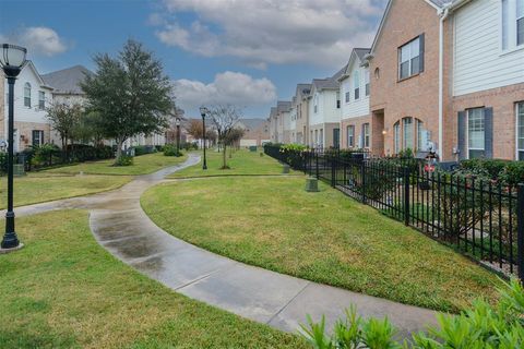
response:
{"label": "wet concrete walkway curving and forking between the lawns", "polygon": [[136,177],[116,191],[20,207],[16,215],[90,209],[95,238],[124,263],[177,292],[283,330],[297,330],[306,314],[315,321],[325,314],[331,327],[350,304],[364,316],[388,316],[402,337],[436,324],[433,311],[246,265],[158,228],[142,210],[141,194],[167,174],[199,161],[199,156],[190,155],[181,165]]}

